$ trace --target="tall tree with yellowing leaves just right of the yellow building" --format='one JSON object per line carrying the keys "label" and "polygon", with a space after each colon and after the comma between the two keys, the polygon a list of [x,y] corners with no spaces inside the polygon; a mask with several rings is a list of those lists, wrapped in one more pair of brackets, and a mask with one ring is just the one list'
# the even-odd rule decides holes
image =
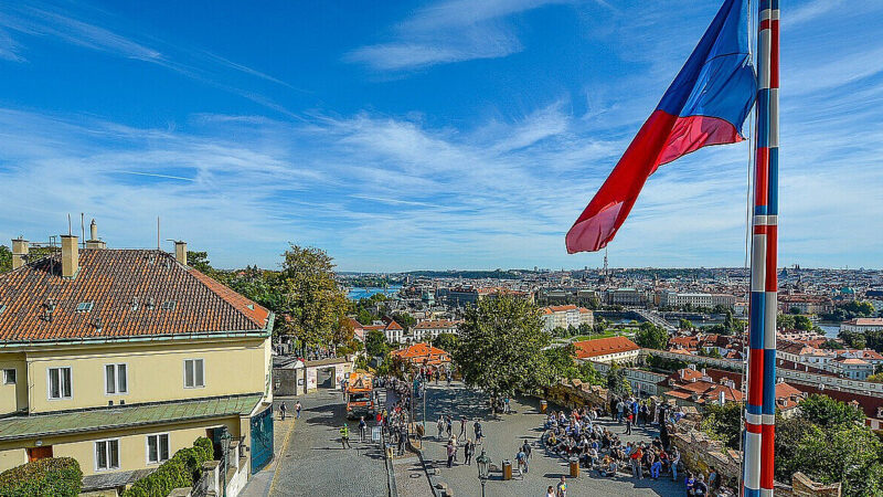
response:
{"label": "tall tree with yellowing leaves just right of the yellow building", "polygon": [[284,292],[281,310],[290,317],[281,331],[302,346],[331,343],[347,322],[347,295],[334,281],[334,264],[325,251],[291,244],[283,254],[279,284]]}

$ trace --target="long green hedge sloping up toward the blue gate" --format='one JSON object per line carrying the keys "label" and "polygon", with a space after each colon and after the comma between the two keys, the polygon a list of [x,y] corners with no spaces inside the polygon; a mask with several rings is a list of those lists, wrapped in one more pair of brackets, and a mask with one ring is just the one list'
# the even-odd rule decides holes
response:
{"label": "long green hedge sloping up toward the blue gate", "polygon": [[202,463],[213,458],[212,441],[196,438],[192,447],[175,452],[157,470],[135,482],[123,497],[166,497],[175,488],[192,487],[202,476]]}

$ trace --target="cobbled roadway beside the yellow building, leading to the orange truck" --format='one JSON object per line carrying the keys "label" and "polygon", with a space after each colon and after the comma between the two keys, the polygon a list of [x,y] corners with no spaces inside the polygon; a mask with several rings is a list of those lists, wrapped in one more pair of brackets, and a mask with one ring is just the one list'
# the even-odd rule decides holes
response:
{"label": "cobbled roadway beside the yellow building, leading to the orange truck", "polygon": [[[277,463],[265,469],[272,474],[269,485],[249,482],[243,495],[387,496],[383,454],[375,445],[359,442],[358,422],[349,422],[352,448],[341,448],[339,430],[345,410],[341,393],[319,391],[299,399],[304,410],[288,445],[277,447]],[[286,404],[294,414],[295,400]]]}

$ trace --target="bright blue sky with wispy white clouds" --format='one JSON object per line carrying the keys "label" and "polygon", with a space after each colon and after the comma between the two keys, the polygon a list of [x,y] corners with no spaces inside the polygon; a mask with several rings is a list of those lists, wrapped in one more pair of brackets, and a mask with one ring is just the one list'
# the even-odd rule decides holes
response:
{"label": "bright blue sky with wispy white clouds", "polygon": [[[779,262],[880,267],[883,2],[784,3]],[[719,6],[0,0],[0,240],[85,212],[224,267],[598,266],[564,234]],[[742,265],[747,156],[661,168],[611,264]]]}

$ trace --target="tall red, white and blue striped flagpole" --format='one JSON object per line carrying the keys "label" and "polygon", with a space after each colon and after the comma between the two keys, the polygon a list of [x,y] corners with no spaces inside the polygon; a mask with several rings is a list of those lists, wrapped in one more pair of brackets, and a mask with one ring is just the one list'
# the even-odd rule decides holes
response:
{"label": "tall red, white and blue striped flagpole", "polygon": [[[757,126],[752,230],[748,402],[745,413],[743,495],[773,495],[776,410],[778,0],[759,0]],[[773,25],[775,24],[775,34]]]}

